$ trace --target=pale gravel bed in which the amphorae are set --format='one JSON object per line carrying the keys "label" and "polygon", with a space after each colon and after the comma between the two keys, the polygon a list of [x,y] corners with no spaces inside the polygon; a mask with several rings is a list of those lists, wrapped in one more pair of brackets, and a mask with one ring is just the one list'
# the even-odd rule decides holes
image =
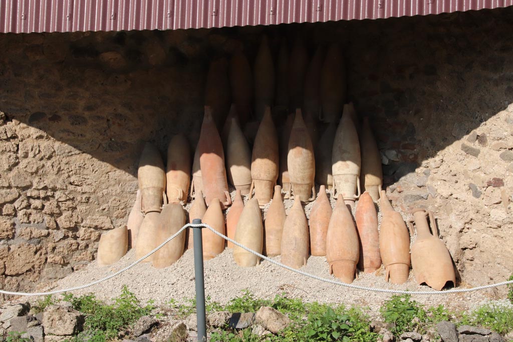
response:
{"label": "pale gravel bed in which the amphorae are set", "polygon": [[[245,198],[246,200],[247,198]],[[331,199],[331,202],[334,205],[333,199]],[[284,203],[288,212],[292,206],[292,201],[285,200]],[[188,206],[186,206],[186,209],[188,209]],[[307,216],[311,206],[312,204],[308,204],[305,207]],[[264,208],[264,214],[267,208],[268,205]],[[381,213],[379,218],[381,219]],[[280,261],[280,256],[273,257],[273,259]],[[92,261],[87,267],[57,281],[53,288],[62,289],[89,283],[128,266],[134,260],[134,251],[131,250],[116,264],[108,267],[98,267],[96,261]],[[328,263],[325,257],[310,256],[307,265],[301,270],[336,280],[335,277],[328,274]],[[98,298],[109,299],[119,295],[124,284],[141,300],[154,299],[156,304],[164,304],[171,298],[178,301],[192,298],[194,297],[193,252],[192,250],[186,251],[175,264],[168,268],[156,269],[151,267],[149,263],[142,263],[100,285],[74,293],[94,292]],[[378,270],[374,274],[361,273],[353,284],[383,289],[430,290],[427,286],[418,286],[412,272],[410,272],[407,283],[403,285],[387,284],[384,280],[384,269]],[[276,294],[284,292],[287,296],[302,298],[305,301],[360,305],[368,307],[371,313],[377,313],[383,301],[391,296],[391,294],[386,293],[353,290],[328,284],[293,273],[265,260],[257,267],[242,268],[235,264],[231,249],[225,249],[222,254],[205,262],[205,293],[212,300],[225,304],[231,298],[242,295],[244,289],[248,289],[262,298],[273,298]],[[430,306],[444,304],[453,310],[464,310],[469,308],[472,303],[489,300],[486,293],[483,292],[419,295],[415,299]]]}

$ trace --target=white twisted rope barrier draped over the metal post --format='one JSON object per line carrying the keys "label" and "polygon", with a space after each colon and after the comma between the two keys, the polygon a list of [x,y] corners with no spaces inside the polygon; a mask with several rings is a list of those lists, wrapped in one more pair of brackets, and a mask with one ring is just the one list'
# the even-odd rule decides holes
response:
{"label": "white twisted rope barrier draped over the metal post", "polygon": [[283,267],[284,269],[287,269],[289,271],[292,271],[292,272],[304,275],[306,277],[310,277],[310,278],[315,279],[315,280],[324,281],[325,283],[329,283],[329,284],[333,284],[333,285],[340,285],[340,286],[347,287],[347,288],[350,288],[350,289],[364,290],[364,291],[373,291],[373,292],[382,292],[382,293],[393,293],[393,294],[413,294],[413,295],[419,294],[419,295],[422,295],[422,294],[464,293],[464,292],[479,291],[479,290],[484,290],[484,289],[490,289],[490,288],[495,288],[495,287],[499,287],[499,286],[504,286],[504,285],[508,285],[508,284],[513,284],[513,280],[508,280],[508,281],[502,281],[501,283],[497,283],[497,284],[483,285],[483,286],[473,287],[473,288],[470,288],[470,289],[451,289],[451,290],[445,290],[445,291],[436,291],[436,290],[432,290],[432,291],[390,290],[390,289],[378,289],[378,288],[359,286],[359,285],[354,285],[354,284],[347,284],[347,283],[343,283],[342,281],[328,279],[328,278],[323,278],[323,277],[320,277],[320,276],[317,276],[317,275],[313,275],[313,274],[306,273],[306,272],[303,272],[301,270],[289,267],[287,265],[283,265],[279,261],[275,261],[275,260],[273,260],[273,259],[271,259],[271,258],[269,258],[269,257],[267,257],[265,255],[262,255],[262,254],[260,254],[258,252],[253,251],[252,249],[250,249],[250,248],[248,248],[248,247],[246,247],[244,245],[239,244],[235,240],[229,238],[226,235],[221,234],[220,232],[216,231],[215,229],[213,229],[212,227],[210,227],[207,224],[204,224],[204,223],[192,224],[192,223],[190,223],[190,224],[187,224],[187,225],[183,226],[179,231],[177,231],[172,236],[167,238],[162,244],[157,246],[154,250],[152,250],[148,254],[140,257],[139,259],[135,260],[132,264],[130,264],[127,267],[122,268],[121,270],[119,270],[119,271],[117,271],[115,273],[112,273],[112,274],[110,274],[110,275],[108,275],[106,277],[103,277],[101,279],[92,281],[91,283],[88,283],[88,284],[85,284],[85,285],[82,285],[82,286],[75,286],[75,287],[71,287],[71,288],[67,288],[67,289],[53,290],[53,291],[47,291],[47,292],[12,292],[12,291],[0,290],[0,293],[10,294],[10,295],[19,295],[19,296],[46,296],[46,295],[51,295],[51,294],[57,294],[57,293],[63,293],[63,292],[71,292],[71,291],[75,291],[75,290],[85,289],[85,288],[91,287],[93,285],[103,283],[103,281],[106,281],[106,280],[108,280],[110,278],[113,278],[113,277],[115,277],[115,276],[117,276],[117,275],[119,275],[119,274],[121,274],[121,273],[123,273],[123,272],[125,272],[125,271],[127,271],[129,269],[131,269],[135,265],[139,264],[142,260],[146,259],[148,256],[152,255],[153,253],[155,253],[156,251],[158,251],[159,249],[164,247],[164,245],[166,245],[168,242],[170,242],[172,239],[174,239],[176,236],[178,236],[180,233],[182,233],[185,229],[187,229],[187,228],[194,228],[194,227],[207,228],[210,231],[212,231],[215,235],[218,235],[218,236],[224,238],[225,240],[231,242],[232,244],[234,244],[236,246],[239,246],[240,248],[242,248],[242,249],[244,249],[244,250],[246,250],[246,251],[248,251],[248,252],[250,252],[250,253],[252,253],[254,255],[257,255],[257,256],[261,257],[262,259],[264,259],[264,260],[269,261],[269,263],[271,263],[271,264]]}

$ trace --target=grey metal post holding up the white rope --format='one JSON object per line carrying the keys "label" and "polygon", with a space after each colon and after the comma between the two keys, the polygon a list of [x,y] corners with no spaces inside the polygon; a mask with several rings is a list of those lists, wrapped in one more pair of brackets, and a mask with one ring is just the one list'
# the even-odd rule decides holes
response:
{"label": "grey metal post holding up the white rope", "polygon": [[[192,220],[195,225],[201,224],[201,219]],[[198,320],[198,340],[207,340],[207,324],[205,313],[205,278],[203,275],[203,227],[192,228],[194,240],[194,279],[196,283],[196,319]]]}

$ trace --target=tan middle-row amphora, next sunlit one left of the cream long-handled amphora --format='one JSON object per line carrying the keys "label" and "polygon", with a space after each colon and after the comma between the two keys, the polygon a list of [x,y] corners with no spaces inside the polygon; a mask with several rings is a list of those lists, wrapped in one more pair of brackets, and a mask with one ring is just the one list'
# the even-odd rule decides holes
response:
{"label": "tan middle-row amphora, next sunlit one left of the cream long-handled amphora", "polygon": [[295,111],[290,131],[287,165],[294,198],[309,202],[315,198],[315,158],[313,146],[303,121],[301,109]]}

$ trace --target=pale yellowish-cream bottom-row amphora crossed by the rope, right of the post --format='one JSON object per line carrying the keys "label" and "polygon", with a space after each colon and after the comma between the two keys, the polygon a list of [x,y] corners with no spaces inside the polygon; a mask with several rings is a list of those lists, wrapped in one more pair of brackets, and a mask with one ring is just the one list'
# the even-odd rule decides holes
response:
{"label": "pale yellowish-cream bottom-row amphora crossed by the rope, right of the post", "polygon": [[[262,254],[264,244],[264,227],[262,214],[256,198],[248,200],[235,229],[235,239],[239,244]],[[233,259],[242,267],[253,267],[260,264],[260,257],[239,246],[233,246]]]}

